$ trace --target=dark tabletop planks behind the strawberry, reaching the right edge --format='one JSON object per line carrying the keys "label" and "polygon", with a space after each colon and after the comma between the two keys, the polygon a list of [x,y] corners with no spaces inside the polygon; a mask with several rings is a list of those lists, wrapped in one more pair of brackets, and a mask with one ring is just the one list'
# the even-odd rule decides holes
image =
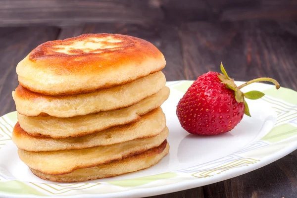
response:
{"label": "dark tabletop planks behind the strawberry, reaching the right edge", "polygon": [[222,61],[235,80],[268,76],[297,90],[296,22],[193,22],[183,24],[180,35],[187,79],[219,72]]}

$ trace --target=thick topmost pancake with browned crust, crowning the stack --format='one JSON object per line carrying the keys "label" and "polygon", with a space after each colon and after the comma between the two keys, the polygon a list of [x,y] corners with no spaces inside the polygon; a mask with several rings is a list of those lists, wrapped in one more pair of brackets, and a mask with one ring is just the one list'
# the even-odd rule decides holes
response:
{"label": "thick topmost pancake with browned crust, crowning the stack", "polygon": [[151,43],[126,35],[84,34],[49,41],[16,67],[19,83],[45,95],[87,93],[131,82],[164,68]]}

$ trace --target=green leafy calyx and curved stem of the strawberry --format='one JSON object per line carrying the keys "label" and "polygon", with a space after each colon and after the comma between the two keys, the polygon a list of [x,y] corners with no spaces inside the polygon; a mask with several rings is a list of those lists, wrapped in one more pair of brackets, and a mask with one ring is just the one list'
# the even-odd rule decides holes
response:
{"label": "green leafy calyx and curved stem of the strawberry", "polygon": [[262,93],[262,92],[259,92],[259,91],[250,91],[250,92],[247,92],[247,93],[243,93],[242,91],[240,91],[240,89],[242,89],[243,87],[245,87],[245,86],[247,86],[247,85],[249,85],[251,83],[262,82],[262,81],[272,82],[272,83],[275,84],[276,89],[280,88],[280,84],[276,80],[274,80],[272,78],[257,78],[257,79],[247,81],[246,83],[244,83],[244,84],[242,84],[240,86],[237,86],[234,83],[234,79],[232,79],[232,78],[230,78],[228,76],[222,62],[221,62],[221,72],[222,73],[218,74],[218,78],[220,79],[221,83],[225,84],[226,88],[234,91],[234,97],[235,97],[235,100],[238,103],[244,102],[244,104],[245,104],[245,114],[247,116],[249,116],[249,117],[250,117],[250,113],[249,113],[248,105],[247,105],[247,102],[246,102],[245,98],[247,98],[247,99],[260,99],[263,96],[265,96],[265,94]]}

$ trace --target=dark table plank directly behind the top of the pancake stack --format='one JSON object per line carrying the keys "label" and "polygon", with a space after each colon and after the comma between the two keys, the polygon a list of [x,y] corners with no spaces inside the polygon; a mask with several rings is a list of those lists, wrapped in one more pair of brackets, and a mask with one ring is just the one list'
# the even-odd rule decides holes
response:
{"label": "dark table plank directly behind the top of the pancake stack", "polygon": [[145,39],[164,54],[167,64],[163,72],[166,75],[167,81],[186,78],[178,28],[176,26],[157,23],[154,25],[126,23],[87,24],[62,28],[58,38],[65,39],[86,33],[126,34]]}

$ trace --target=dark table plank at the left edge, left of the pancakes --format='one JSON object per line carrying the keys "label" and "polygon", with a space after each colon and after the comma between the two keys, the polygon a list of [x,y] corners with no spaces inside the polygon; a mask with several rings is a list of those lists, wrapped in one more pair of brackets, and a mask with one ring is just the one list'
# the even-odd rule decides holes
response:
{"label": "dark table plank at the left edge, left of the pancakes", "polygon": [[15,67],[39,44],[56,39],[55,27],[0,28],[0,115],[15,110],[11,92],[17,87]]}

